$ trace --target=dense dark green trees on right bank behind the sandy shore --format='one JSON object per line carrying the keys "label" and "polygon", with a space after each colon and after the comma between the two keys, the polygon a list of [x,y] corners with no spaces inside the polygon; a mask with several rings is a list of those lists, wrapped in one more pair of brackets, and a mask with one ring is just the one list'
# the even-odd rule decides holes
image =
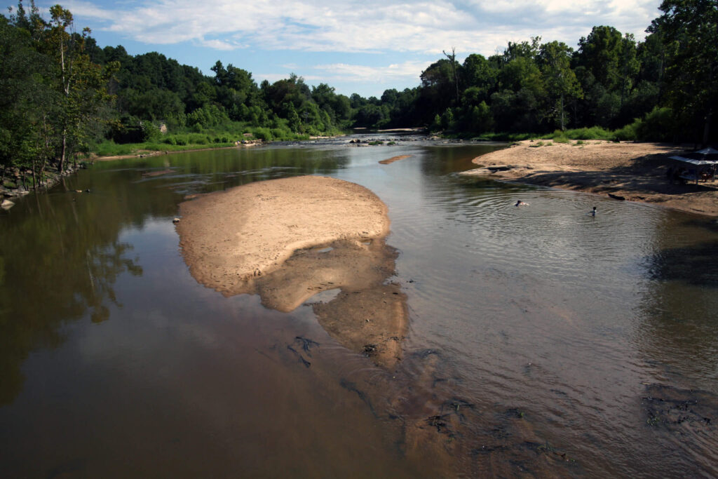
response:
{"label": "dense dark green trees on right bank behind the sandy shore", "polygon": [[717,137],[718,1],[666,0],[660,9],[643,42],[600,26],[577,50],[535,37],[461,64],[445,54],[421,85],[370,98],[356,119],[475,134],[601,126],[625,139],[707,143]]}

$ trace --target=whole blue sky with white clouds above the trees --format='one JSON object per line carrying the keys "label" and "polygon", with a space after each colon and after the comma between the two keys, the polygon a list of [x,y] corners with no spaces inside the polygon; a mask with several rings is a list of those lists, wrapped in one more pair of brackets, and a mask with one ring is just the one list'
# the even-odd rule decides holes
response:
{"label": "whole blue sky with white clouds above the trees", "polygon": [[597,25],[643,40],[661,13],[661,0],[35,1],[46,19],[57,3],[101,47],[159,52],[206,75],[220,60],[257,83],[295,73],[308,85],[364,97],[419,85],[421,72],[452,48],[461,62],[536,36],[576,48]]}

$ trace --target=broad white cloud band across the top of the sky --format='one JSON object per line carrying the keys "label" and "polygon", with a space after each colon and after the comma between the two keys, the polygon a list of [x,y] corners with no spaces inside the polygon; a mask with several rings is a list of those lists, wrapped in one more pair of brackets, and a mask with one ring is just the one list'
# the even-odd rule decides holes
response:
{"label": "broad white cloud band across the top of the sky", "polygon": [[[137,6],[139,4],[139,6]],[[101,8],[70,0],[75,17],[149,44],[193,41],[218,50],[421,52],[452,46],[490,55],[508,40],[541,35],[575,45],[594,25],[638,39],[658,16],[660,0],[142,0]]]}

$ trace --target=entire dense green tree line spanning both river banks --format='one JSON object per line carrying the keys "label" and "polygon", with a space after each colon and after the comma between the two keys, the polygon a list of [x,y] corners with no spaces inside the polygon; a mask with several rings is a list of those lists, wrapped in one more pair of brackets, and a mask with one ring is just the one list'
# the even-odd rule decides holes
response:
{"label": "entire dense green tree line spanning both river banks", "polygon": [[[350,127],[426,126],[473,136],[545,133],[601,126],[623,139],[716,138],[718,0],[666,0],[638,42],[594,27],[578,47],[509,42],[502,53],[456,52],[421,73],[420,84],[381,98],[344,96],[301,77],[257,84],[252,74],[217,61],[213,75],[157,52],[129,55],[75,32],[70,11],[50,21],[30,0],[0,17],[0,166],[32,170],[116,143],[164,141],[159,124],[192,141],[233,141],[337,133]],[[191,140],[191,139],[190,139]]]}

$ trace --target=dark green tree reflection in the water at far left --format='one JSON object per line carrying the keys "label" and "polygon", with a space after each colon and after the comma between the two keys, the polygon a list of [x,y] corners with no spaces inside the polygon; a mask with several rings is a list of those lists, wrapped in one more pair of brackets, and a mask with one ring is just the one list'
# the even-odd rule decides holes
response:
{"label": "dark green tree reflection in the water at far left", "polygon": [[123,223],[109,219],[116,205],[62,192],[29,197],[2,218],[0,404],[22,391],[21,366],[32,350],[61,345],[67,322],[107,320],[108,302],[121,307],[113,291],[118,276],[141,276],[132,246],[117,241]]}

